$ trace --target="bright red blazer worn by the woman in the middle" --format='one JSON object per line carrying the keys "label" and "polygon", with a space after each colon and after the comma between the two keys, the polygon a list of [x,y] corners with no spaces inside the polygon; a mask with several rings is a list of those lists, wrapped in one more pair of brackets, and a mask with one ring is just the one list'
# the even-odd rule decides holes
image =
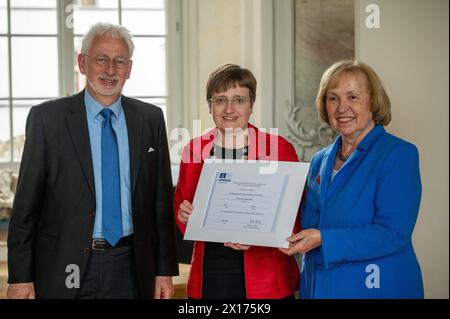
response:
{"label": "bright red blazer worn by the woman in the middle", "polygon": [[[184,234],[186,225],[178,221],[178,210],[183,200],[193,202],[203,167],[218,133],[213,129],[191,140],[183,150],[174,198],[175,220]],[[249,125],[248,159],[298,162],[294,147],[283,137],[266,134]],[[296,222],[298,225],[298,222]],[[299,231],[295,227],[294,231]],[[204,242],[194,243],[187,294],[202,298]],[[231,248],[230,248],[231,249]],[[299,268],[294,257],[277,248],[253,246],[244,251],[245,289],[249,299],[276,299],[294,294],[299,287]]]}

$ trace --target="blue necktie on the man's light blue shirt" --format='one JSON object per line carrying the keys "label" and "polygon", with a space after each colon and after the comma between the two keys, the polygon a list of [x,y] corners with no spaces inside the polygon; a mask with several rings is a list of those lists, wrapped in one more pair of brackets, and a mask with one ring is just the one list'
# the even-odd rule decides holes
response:
{"label": "blue necktie on the man's light blue shirt", "polygon": [[103,237],[115,246],[122,237],[120,204],[120,168],[116,134],[111,125],[113,112],[101,111],[102,123],[102,231]]}

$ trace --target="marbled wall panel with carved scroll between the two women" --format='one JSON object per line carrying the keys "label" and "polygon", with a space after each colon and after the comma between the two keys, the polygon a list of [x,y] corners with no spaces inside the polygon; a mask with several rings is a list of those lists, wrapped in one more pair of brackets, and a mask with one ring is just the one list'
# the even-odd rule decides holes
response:
{"label": "marbled wall panel with carved scroll between the two women", "polygon": [[274,2],[275,126],[302,161],[336,136],[319,119],[315,95],[326,68],[354,56],[351,9],[353,0]]}

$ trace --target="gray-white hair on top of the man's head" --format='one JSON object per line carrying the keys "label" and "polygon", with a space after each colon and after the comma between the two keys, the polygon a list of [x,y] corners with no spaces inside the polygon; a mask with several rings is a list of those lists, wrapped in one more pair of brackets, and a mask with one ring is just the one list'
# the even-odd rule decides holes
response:
{"label": "gray-white hair on top of the man's head", "polygon": [[84,35],[83,42],[81,44],[81,53],[87,54],[94,39],[103,35],[114,39],[124,40],[127,43],[130,57],[133,56],[134,43],[130,31],[121,25],[103,22],[94,24]]}

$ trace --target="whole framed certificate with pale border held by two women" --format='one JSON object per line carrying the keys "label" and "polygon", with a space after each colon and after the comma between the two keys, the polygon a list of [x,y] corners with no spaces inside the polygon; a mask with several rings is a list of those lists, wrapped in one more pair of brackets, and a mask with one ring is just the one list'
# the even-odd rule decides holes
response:
{"label": "whole framed certificate with pale border held by two women", "polygon": [[309,163],[205,161],[184,239],[288,247]]}

